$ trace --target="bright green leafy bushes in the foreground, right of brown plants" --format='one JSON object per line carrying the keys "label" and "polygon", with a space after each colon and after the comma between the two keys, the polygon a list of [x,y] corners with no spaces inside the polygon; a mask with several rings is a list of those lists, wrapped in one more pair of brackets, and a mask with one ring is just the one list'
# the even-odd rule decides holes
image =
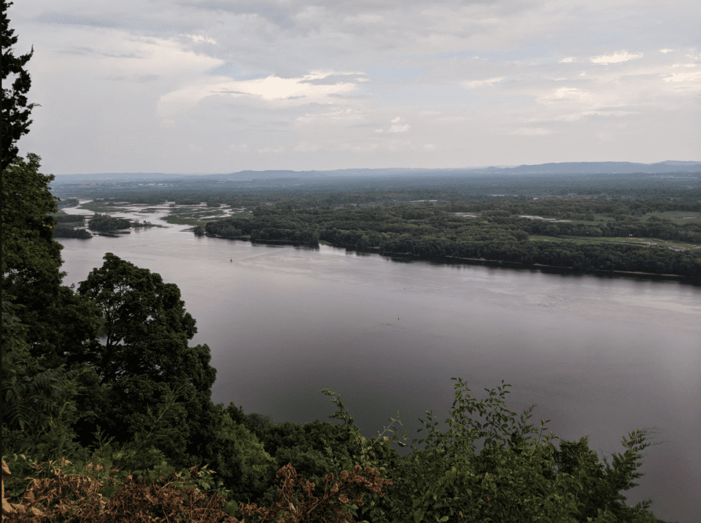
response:
{"label": "bright green leafy bushes in the foreground, right of brown plants", "polygon": [[[351,428],[362,447],[361,463],[383,470],[393,480],[383,503],[379,499],[368,503],[364,516],[369,521],[416,523],[458,518],[468,522],[655,521],[647,510],[652,500],[630,507],[620,494],[637,486],[632,480],[641,477],[635,470],[641,465],[637,462],[640,451],[650,445],[646,430],[634,430],[624,437],[626,451],[614,454],[613,466],[604,459],[604,469],[586,437],[578,442],[562,441],[558,450],[550,440],[559,438],[552,433],[543,435],[550,420],[541,420],[540,430],[526,424],[535,405],[517,421],[516,413],[505,409],[507,386],[499,387],[498,393],[485,389],[489,398],[477,402],[460,379],[451,418],[446,420],[449,430],[441,433],[433,415],[426,412],[427,421],[421,421],[428,434],[412,440],[426,446],[418,449],[411,444],[412,454],[393,469],[383,466],[387,443],[396,441],[397,435],[391,440],[380,440],[381,436],[365,440],[348,411],[343,411],[340,398],[325,390],[339,406],[329,417],[343,419]],[[472,414],[479,414],[486,423],[475,421]],[[538,440],[530,438],[531,434],[537,434]],[[480,438],[484,438],[484,447],[478,454],[474,443]]]}

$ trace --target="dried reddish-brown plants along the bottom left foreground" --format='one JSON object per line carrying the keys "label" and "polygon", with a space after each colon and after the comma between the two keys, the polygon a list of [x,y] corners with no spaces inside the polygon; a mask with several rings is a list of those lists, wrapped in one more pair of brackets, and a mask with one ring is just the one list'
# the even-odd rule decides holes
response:
{"label": "dried reddish-brown plants along the bottom left foreground", "polygon": [[[55,462],[48,461],[46,464],[51,467],[53,463]],[[70,461],[61,459],[61,466],[69,464]],[[36,465],[36,468],[41,465]],[[194,476],[197,468],[191,468],[190,473]],[[177,489],[175,484],[182,484],[182,480],[179,480],[175,472],[165,480],[162,476],[159,478],[160,482],[165,482],[163,485],[147,484],[146,477],[142,478],[140,484],[134,481],[132,475],[128,475],[123,483],[109,477],[110,486],[117,483],[120,489],[109,498],[104,498],[100,494],[104,482],[87,475],[65,475],[56,466],[53,468],[54,477],[25,478],[29,484],[22,503],[11,503],[5,498],[5,480],[10,475],[3,459],[4,523],[242,523],[221,509],[226,501],[218,494],[209,497],[193,487]],[[278,490],[277,503],[271,508],[258,507],[255,503],[242,504],[240,512],[258,523],[273,521],[273,518],[277,518],[275,521],[280,523],[353,522],[351,515],[342,512],[341,507],[335,504],[336,500],[343,507],[351,501],[356,507],[362,506],[362,496],[357,492],[359,487],[365,487],[369,492],[382,497],[382,487],[392,484],[392,480],[379,477],[378,470],[371,467],[362,469],[356,465],[351,473],[342,471],[339,474],[340,485],[339,482],[334,482],[333,474],[325,475],[324,495],[317,498],[313,495],[315,484],[298,475],[292,463],[278,470],[276,477],[281,476],[283,488]],[[297,484],[301,487],[301,495],[295,492]],[[154,515],[156,509],[160,509],[163,516]]]}

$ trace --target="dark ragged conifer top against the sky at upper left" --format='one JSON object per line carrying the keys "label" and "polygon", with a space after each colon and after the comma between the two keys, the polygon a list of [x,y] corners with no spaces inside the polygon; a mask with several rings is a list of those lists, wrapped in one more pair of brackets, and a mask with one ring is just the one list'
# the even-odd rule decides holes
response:
{"label": "dark ragged conifer top against the sky at upper left", "polygon": [[[2,15],[0,18],[0,46],[2,47],[2,135],[0,143],[2,151],[0,158],[0,172],[10,165],[13,158],[18,154],[18,148],[15,143],[20,140],[22,135],[29,133],[29,113],[35,105],[28,104],[26,93],[32,86],[32,79],[29,73],[25,71],[25,64],[34,54],[34,46],[26,55],[15,57],[12,46],[17,43],[17,36],[13,36],[14,29],[10,29],[10,20],[7,16],[8,8],[13,5],[13,2],[5,0],[0,1]],[[15,81],[11,84],[11,88],[7,89],[7,79],[11,74],[17,75]],[[40,106],[41,107],[41,106]]]}

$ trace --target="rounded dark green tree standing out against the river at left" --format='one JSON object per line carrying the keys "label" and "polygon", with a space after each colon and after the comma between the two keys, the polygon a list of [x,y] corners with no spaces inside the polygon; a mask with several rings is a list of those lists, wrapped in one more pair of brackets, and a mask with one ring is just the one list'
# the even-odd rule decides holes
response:
{"label": "rounded dark green tree standing out against the river at left", "polygon": [[78,292],[100,307],[104,341],[87,356],[99,381],[81,399],[83,412],[93,416],[77,429],[81,443],[93,443],[97,425],[117,442],[129,442],[142,430],[149,409],[155,411],[168,391],[177,389],[170,423],[179,430],[158,448],[183,466],[206,456],[212,428],[222,419],[211,401],[217,371],[209,365],[209,347],[188,346],[197,329],[177,285],[108,252]]}

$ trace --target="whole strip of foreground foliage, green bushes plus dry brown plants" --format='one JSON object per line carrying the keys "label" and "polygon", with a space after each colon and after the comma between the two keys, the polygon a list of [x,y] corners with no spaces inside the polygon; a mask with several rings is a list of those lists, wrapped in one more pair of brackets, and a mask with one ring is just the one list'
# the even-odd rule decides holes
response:
{"label": "whole strip of foreground foliage, green bushes plus dry brown plants", "polygon": [[[18,475],[15,482],[7,482],[8,498],[13,498],[8,501],[32,505],[46,514],[53,514],[53,510],[67,510],[68,505],[75,508],[76,503],[82,503],[86,496],[100,498],[98,495],[101,494],[100,503],[93,503],[90,505],[93,512],[88,511],[90,517],[95,518],[104,515],[104,510],[121,511],[114,512],[113,516],[117,513],[135,516],[146,510],[156,517],[172,517],[176,513],[172,510],[184,510],[182,503],[185,503],[189,510],[200,513],[197,519],[191,519],[192,522],[236,523],[236,517],[245,522],[658,522],[647,510],[651,500],[631,507],[625,505],[625,496],[620,494],[620,491],[636,486],[632,480],[641,476],[635,470],[640,466],[637,462],[641,458],[640,451],[649,446],[646,430],[635,430],[624,437],[625,452],[614,454],[613,466],[604,459],[604,468],[596,453],[588,448],[586,438],[578,442],[563,441],[558,450],[550,442],[557,436],[552,433],[543,435],[544,420],[541,420],[540,430],[526,424],[533,407],[517,421],[516,413],[505,409],[506,387],[508,384],[499,387],[498,393],[485,389],[489,398],[477,402],[470,398],[470,389],[459,380],[455,385],[452,417],[447,420],[449,430],[441,433],[437,421],[427,412],[428,420],[422,422],[428,434],[421,440],[412,440],[412,454],[400,459],[393,455],[396,453],[390,442],[397,441],[393,423],[398,421],[401,424],[401,421],[391,419],[392,424],[385,430],[390,431],[391,438],[383,437],[383,433],[376,439],[367,440],[360,435],[348,410],[344,410],[341,398],[325,389],[323,392],[338,406],[336,413],[329,417],[344,421],[349,442],[357,451],[351,456],[327,448],[332,466],[323,478],[321,497],[314,492],[315,485],[320,482],[310,482],[298,474],[290,461],[287,466],[280,467],[275,481],[271,481],[275,501],[268,503],[270,508],[240,499],[226,503],[229,498],[221,483],[217,489],[210,488],[215,472],[205,470],[206,466],[200,473],[196,468],[191,468],[189,474],[186,469],[177,473],[163,460],[151,470],[129,473],[116,465],[123,452],[115,453],[108,442],[102,445],[100,452],[93,454],[87,465],[68,467],[71,463],[62,461],[61,468],[55,463],[39,466],[25,456],[15,454],[8,457],[8,465],[13,470],[18,466],[22,470],[20,457],[36,470],[24,492],[22,487],[25,484],[18,481],[23,474]],[[485,417],[486,423],[475,421],[472,414]],[[531,434],[538,435],[538,439],[531,438]],[[474,443],[483,437],[484,447],[478,453]],[[402,439],[406,440],[406,434]],[[413,445],[416,442],[425,443],[426,447],[418,449]],[[388,466],[390,463],[391,467]],[[348,473],[348,470],[352,472]],[[77,483],[83,485],[80,492],[72,487],[64,488],[64,494],[60,496],[55,492],[42,494],[43,497],[38,495],[41,489],[51,491],[60,484],[62,475],[72,478],[87,475],[88,479]],[[339,477],[341,484],[334,483],[334,475]],[[282,489],[274,487],[280,476],[285,478]],[[48,481],[52,477],[53,482]],[[299,483],[297,489],[294,488],[295,482]],[[352,487],[353,484],[356,487]],[[177,487],[181,494],[163,491],[169,485]],[[381,491],[383,486],[387,487],[386,492]],[[366,487],[369,491],[361,493],[357,487]],[[27,494],[29,491],[34,494]],[[213,494],[207,498],[203,491]],[[150,503],[144,505],[144,500]],[[61,502],[68,505],[61,505]],[[231,519],[226,519],[222,505],[225,505],[226,515],[233,516]],[[99,507],[102,507],[102,512],[97,510]],[[88,509],[82,510],[86,519],[69,520],[109,520],[88,519],[88,512],[85,512]],[[167,513],[167,510],[171,512]],[[205,512],[209,516],[205,517]],[[36,522],[52,520],[36,516]]]}

